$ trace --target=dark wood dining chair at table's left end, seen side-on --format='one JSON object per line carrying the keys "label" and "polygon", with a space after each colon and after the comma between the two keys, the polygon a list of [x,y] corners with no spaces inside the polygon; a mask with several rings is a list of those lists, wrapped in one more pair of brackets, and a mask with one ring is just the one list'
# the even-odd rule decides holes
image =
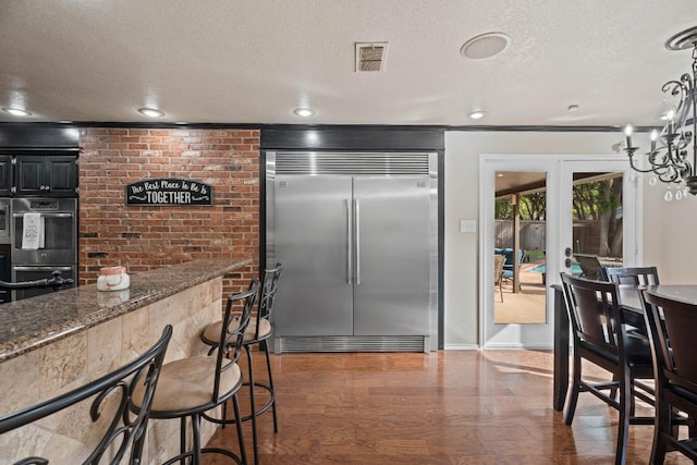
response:
{"label": "dark wood dining chair at table's left end, seen side-on", "polygon": [[[634,415],[634,399],[653,404],[653,389],[639,380],[653,381],[650,344],[624,325],[620,291],[615,283],[561,273],[573,336],[573,377],[564,420],[574,419],[578,394],[590,392],[620,413],[615,464],[624,464],[629,425],[651,425],[653,417]],[[607,382],[589,381],[583,362],[612,374]],[[613,390],[619,391],[619,401]],[[609,390],[608,392],[604,392]]]}

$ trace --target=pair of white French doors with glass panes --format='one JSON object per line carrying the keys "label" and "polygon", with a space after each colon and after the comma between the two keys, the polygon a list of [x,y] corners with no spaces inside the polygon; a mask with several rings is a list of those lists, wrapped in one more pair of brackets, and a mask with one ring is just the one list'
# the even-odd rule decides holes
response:
{"label": "pair of white French doors with glass panes", "polygon": [[[497,206],[504,197],[497,194],[497,178],[524,174],[543,178],[545,221],[536,224],[533,238],[526,237],[524,225],[533,224],[534,216],[518,211],[513,225],[518,231],[518,242],[498,244],[501,232],[497,231]],[[560,272],[582,274],[587,261],[606,266],[634,266],[639,261],[638,219],[636,210],[637,186],[631,182],[632,172],[626,159],[608,156],[485,156],[480,164],[480,341],[485,348],[552,348],[554,325],[554,293],[550,287],[561,282]],[[526,193],[540,193],[541,186],[517,185],[518,197],[509,205],[517,204],[523,210]],[[513,191],[511,191],[513,192]],[[498,200],[497,200],[498,198]],[[500,215],[499,215],[500,216]],[[513,215],[512,221],[516,215]],[[515,236],[516,234],[513,234]],[[543,237],[543,242],[539,238]],[[537,242],[536,242],[537,240]],[[513,245],[511,245],[513,244]],[[530,245],[534,244],[534,245]],[[537,245],[536,245],[537,244]],[[498,247],[502,245],[503,247]],[[522,249],[524,255],[517,267],[517,282],[510,279],[503,283],[503,305],[506,301],[525,296],[541,284],[543,291],[538,298],[543,302],[543,313],[526,320],[519,313],[510,315],[501,308],[501,290],[494,270],[494,254],[498,248]],[[543,248],[543,249],[542,249]],[[583,262],[583,266],[582,266]],[[596,268],[598,268],[597,266]],[[587,271],[589,272],[589,271]],[[535,279],[537,278],[537,282]],[[527,282],[527,284],[526,284]],[[522,292],[516,289],[522,287]],[[517,292],[516,292],[517,291]],[[515,310],[514,310],[515,313]]]}

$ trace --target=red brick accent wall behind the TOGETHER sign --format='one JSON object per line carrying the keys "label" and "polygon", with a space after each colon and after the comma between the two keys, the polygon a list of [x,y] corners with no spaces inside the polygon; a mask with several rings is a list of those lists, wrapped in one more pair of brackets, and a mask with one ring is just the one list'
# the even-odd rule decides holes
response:
{"label": "red brick accent wall behind the TOGETHER sign", "polygon": [[[225,295],[258,277],[259,131],[82,129],[80,283],[198,258],[249,258]],[[125,186],[154,178],[210,184],[212,207],[126,206]]]}

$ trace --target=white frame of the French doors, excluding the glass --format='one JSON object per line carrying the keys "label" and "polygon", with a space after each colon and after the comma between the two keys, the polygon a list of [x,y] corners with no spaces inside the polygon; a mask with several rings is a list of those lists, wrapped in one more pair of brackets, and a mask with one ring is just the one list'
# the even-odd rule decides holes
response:
{"label": "white frame of the French doors, excluding the glass", "polygon": [[[553,348],[554,329],[554,293],[551,284],[559,283],[559,273],[562,271],[563,260],[547,260],[547,289],[546,289],[546,323],[543,325],[493,325],[494,285],[493,280],[487,277],[493,276],[493,260],[489,260],[494,245],[494,208],[497,171],[527,171],[547,173],[547,218],[546,218],[546,249],[559,253],[548,254],[548,257],[561,258],[563,255],[563,234],[566,234],[562,221],[565,217],[562,212],[565,192],[562,179],[565,162],[592,162],[598,171],[624,172],[624,194],[636,200],[628,208],[634,208],[635,224],[626,232],[634,233],[634,254],[625,247],[624,253],[633,256],[629,262],[641,261],[641,183],[636,182],[636,176],[626,162],[626,158],[616,155],[511,155],[511,154],[484,154],[479,162],[479,347],[480,348]],[[619,163],[617,161],[623,161]],[[611,163],[609,163],[611,162]],[[619,169],[620,168],[620,169]],[[571,186],[568,186],[571,187]],[[570,188],[566,191],[571,192]],[[624,206],[623,206],[624,207]],[[626,228],[626,227],[625,227]],[[626,237],[625,237],[626,238]],[[631,242],[631,237],[629,237]]]}

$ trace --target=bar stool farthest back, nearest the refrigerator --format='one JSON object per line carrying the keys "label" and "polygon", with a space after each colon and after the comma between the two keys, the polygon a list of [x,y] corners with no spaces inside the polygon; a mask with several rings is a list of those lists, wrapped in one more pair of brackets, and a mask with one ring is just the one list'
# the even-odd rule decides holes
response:
{"label": "bar stool farthest back, nearest the refrigerator", "polygon": [[[246,421],[252,419],[252,438],[254,445],[254,460],[255,463],[259,463],[259,446],[257,441],[257,417],[271,408],[273,414],[273,432],[279,432],[278,428],[278,417],[276,412],[276,393],[273,390],[273,375],[271,372],[271,359],[269,357],[269,346],[268,340],[271,338],[272,333],[272,325],[270,321],[271,313],[273,310],[273,304],[276,301],[276,293],[278,291],[279,278],[283,271],[283,266],[281,264],[276,264],[274,268],[268,268],[264,271],[264,281],[261,284],[261,296],[259,297],[259,305],[257,308],[256,319],[252,319],[249,326],[244,334],[243,346],[245,348],[245,353],[247,354],[248,360],[248,378],[249,381],[245,382],[245,386],[249,386],[249,404],[252,413],[247,416],[242,417],[242,421]],[[200,335],[201,341],[210,345],[211,354],[219,345],[218,340],[216,339],[216,333],[220,331],[220,322],[216,322],[209,325],[204,329],[204,332]],[[269,375],[269,383],[262,383],[254,380],[254,363],[252,358],[252,347],[254,345],[259,345],[259,350],[262,350],[266,354],[266,366]],[[256,407],[256,396],[254,393],[254,388],[261,388],[269,392],[269,402],[267,402],[264,406],[257,409]],[[216,421],[216,420],[213,420]],[[223,408],[223,419],[217,420],[217,423],[224,424],[234,424],[235,420],[228,419],[225,415],[225,411]]]}

